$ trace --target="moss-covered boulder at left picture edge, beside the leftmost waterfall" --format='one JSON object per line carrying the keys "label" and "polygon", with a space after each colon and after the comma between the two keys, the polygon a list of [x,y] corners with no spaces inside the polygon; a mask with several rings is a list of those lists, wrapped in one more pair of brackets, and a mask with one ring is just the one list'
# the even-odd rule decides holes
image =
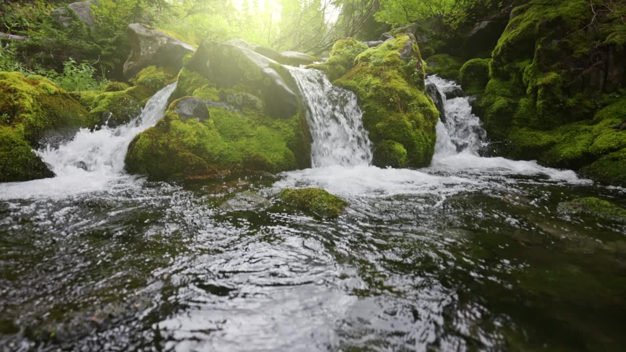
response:
{"label": "moss-covered boulder at left picture edge, beside the leftmost waterfall", "polygon": [[56,128],[90,124],[85,108],[48,79],[0,72],[0,182],[53,176],[32,151],[39,138]]}

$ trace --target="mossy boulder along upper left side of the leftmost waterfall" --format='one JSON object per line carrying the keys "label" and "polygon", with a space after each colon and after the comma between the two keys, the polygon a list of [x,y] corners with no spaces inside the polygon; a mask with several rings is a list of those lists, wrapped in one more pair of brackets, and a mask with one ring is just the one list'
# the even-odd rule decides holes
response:
{"label": "mossy boulder along upper left side of the leftmost waterfall", "polygon": [[[98,125],[116,127],[130,122],[158,90],[172,83],[173,75],[163,68],[148,66],[131,80],[133,86],[111,82],[105,91],[78,92],[81,103],[90,109],[91,119]],[[106,89],[108,88],[108,89]],[[123,88],[123,89],[122,89]]]}

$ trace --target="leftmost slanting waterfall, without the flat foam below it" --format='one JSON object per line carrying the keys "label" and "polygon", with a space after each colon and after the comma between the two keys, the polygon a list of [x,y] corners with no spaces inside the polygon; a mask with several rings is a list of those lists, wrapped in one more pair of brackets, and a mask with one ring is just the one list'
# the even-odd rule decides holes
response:
{"label": "leftmost slanting waterfall, without the flat foam below it", "polygon": [[58,177],[84,172],[102,176],[120,173],[124,169],[128,144],[138,133],[163,117],[168,98],[175,88],[176,83],[173,83],[158,91],[148,100],[141,115],[125,125],[113,128],[103,126],[95,131],[81,128],[68,143],[58,148],[48,145],[36,153]]}

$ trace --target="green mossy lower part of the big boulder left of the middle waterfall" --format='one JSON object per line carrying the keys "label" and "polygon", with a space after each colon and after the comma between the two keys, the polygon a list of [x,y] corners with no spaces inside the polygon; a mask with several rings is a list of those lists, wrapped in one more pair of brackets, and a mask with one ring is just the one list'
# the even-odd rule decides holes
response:
{"label": "green mossy lower part of the big boulder left of the middle waterfall", "polygon": [[210,118],[181,118],[175,100],[155,127],[133,139],[126,170],[151,180],[216,179],[240,172],[282,172],[310,167],[304,115],[272,118],[207,101]]}

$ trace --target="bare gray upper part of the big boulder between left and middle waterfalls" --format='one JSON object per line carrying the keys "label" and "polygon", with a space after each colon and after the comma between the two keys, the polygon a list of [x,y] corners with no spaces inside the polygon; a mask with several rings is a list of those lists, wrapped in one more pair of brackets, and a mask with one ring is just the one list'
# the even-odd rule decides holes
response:
{"label": "bare gray upper part of the big boulder between left and middle waterfalls", "polygon": [[205,40],[187,62],[213,84],[228,89],[239,83],[259,93],[270,116],[291,117],[297,113],[297,85],[289,71],[270,58],[240,46]]}

